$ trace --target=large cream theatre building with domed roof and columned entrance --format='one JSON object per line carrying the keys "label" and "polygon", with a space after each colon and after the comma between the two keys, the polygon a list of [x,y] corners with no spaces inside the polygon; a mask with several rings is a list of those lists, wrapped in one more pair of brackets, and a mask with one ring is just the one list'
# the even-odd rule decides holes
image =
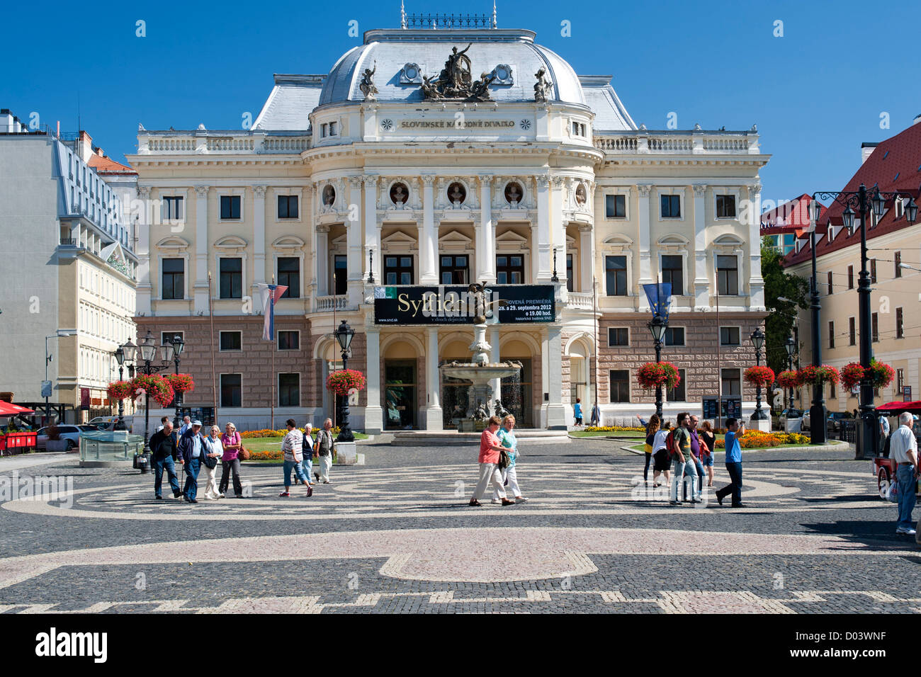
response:
{"label": "large cream theatre building with domed roof and columned entrance", "polygon": [[[519,425],[565,426],[596,391],[605,422],[648,414],[642,285],[668,281],[663,359],[684,379],[666,410],[699,411],[722,389],[752,411],[741,370],[764,318],[768,159],[756,130],[637,127],[611,76],[577,76],[534,37],[371,30],[327,75],[276,75],[250,130],[139,130],[135,321],[184,333],[190,405],[216,401],[241,429],[266,426],[270,403],[276,424],[334,414],[323,384],[346,320],[348,366],[367,373],[353,425],[452,426],[462,386],[438,367],[470,359],[472,328],[381,325],[376,287],[485,282],[553,286],[554,321],[487,333],[495,361],[521,362],[502,384]],[[252,300],[273,281],[289,287],[274,344]]]}

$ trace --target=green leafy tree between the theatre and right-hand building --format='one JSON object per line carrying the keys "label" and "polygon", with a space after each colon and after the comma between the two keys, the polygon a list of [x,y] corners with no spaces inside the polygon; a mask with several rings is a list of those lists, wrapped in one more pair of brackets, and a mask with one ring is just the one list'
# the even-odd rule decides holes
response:
{"label": "green leafy tree between the theatre and right-hand building", "polygon": [[[768,312],[764,321],[764,350],[767,366],[774,369],[775,373],[787,369],[785,344],[796,322],[797,308],[809,308],[806,301],[809,283],[799,275],[787,273],[783,261],[783,255],[771,244],[771,240],[763,238],[761,276],[764,277],[764,307]],[[778,300],[780,297],[789,298],[795,303]]]}

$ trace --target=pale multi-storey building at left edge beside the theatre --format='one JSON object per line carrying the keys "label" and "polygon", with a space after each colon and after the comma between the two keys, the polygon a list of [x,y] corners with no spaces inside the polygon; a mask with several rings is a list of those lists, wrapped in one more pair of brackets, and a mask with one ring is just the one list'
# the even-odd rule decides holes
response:
{"label": "pale multi-storey building at left edge beside the theatre", "polygon": [[68,422],[111,413],[112,353],[136,333],[128,207],[94,168],[102,158],[85,132],[32,131],[0,111],[0,391],[43,402],[47,344],[50,403]]}

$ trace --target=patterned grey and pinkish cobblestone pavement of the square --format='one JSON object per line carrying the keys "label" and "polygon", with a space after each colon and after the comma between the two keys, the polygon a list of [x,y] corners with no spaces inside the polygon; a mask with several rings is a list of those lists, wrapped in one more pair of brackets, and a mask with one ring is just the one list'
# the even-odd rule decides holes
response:
{"label": "patterned grey and pinkish cobblestone pavement of the square", "polygon": [[731,509],[670,506],[610,441],[535,444],[527,502],[470,508],[476,449],[362,447],[310,498],[244,465],[245,497],[196,506],[150,474],[0,461],[0,613],[921,611],[914,539],[852,451],[747,452]]}

